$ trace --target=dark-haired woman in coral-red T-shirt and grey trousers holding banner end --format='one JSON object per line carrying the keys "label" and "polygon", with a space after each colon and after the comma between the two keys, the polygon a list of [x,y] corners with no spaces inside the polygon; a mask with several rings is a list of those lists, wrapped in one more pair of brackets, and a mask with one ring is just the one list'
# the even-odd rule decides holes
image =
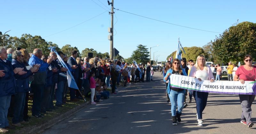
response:
{"label": "dark-haired woman in coral-red T-shirt and grey trousers holding banner end", "polygon": [[[240,66],[236,70],[236,75],[234,81],[240,81],[244,84],[244,81],[255,81],[256,76],[256,66],[252,65],[252,56],[246,55],[244,57],[244,65]],[[241,123],[247,124],[248,128],[253,126],[251,121],[252,116],[252,102],[255,98],[255,95],[247,95],[247,94],[239,94],[239,99],[242,106],[242,116],[241,116]]]}

